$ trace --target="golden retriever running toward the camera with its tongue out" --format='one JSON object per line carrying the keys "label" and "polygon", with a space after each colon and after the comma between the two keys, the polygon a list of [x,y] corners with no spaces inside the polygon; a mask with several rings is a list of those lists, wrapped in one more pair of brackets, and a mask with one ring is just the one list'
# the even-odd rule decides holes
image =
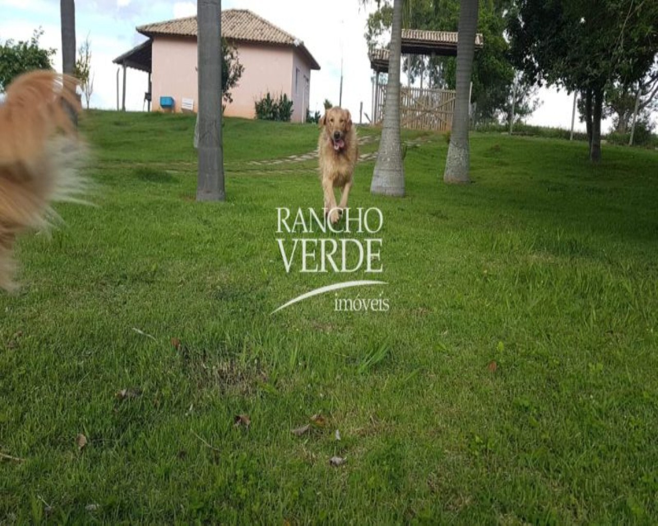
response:
{"label": "golden retriever running toward the camera with its tongue out", "polygon": [[[349,111],[330,108],[320,118],[318,156],[320,181],[324,191],[324,214],[336,224],[340,213],[347,208],[347,198],[352,187],[354,167],[359,158],[357,133],[352,126]],[[334,188],[342,188],[340,204],[336,204]]]}

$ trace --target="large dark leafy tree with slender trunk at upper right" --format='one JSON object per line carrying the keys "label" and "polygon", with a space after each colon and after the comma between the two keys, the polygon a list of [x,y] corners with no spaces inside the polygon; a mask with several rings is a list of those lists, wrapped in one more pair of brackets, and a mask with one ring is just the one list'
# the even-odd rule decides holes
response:
{"label": "large dark leafy tree with slender trunk at upper right", "polygon": [[528,80],[582,92],[590,160],[599,162],[605,92],[651,68],[658,3],[518,0],[508,18],[511,57]]}

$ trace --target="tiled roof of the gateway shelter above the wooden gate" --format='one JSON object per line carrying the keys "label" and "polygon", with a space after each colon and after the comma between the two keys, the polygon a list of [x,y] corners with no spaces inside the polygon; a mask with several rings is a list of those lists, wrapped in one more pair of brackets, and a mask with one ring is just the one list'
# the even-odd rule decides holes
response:
{"label": "tiled roof of the gateway shelter above the wooden gate", "polygon": [[[475,50],[482,49],[482,34],[475,36]],[[455,57],[457,55],[457,32],[425,31],[417,29],[402,30],[403,55],[440,55]],[[370,68],[377,72],[388,71],[388,49],[374,49],[368,54]]]}

